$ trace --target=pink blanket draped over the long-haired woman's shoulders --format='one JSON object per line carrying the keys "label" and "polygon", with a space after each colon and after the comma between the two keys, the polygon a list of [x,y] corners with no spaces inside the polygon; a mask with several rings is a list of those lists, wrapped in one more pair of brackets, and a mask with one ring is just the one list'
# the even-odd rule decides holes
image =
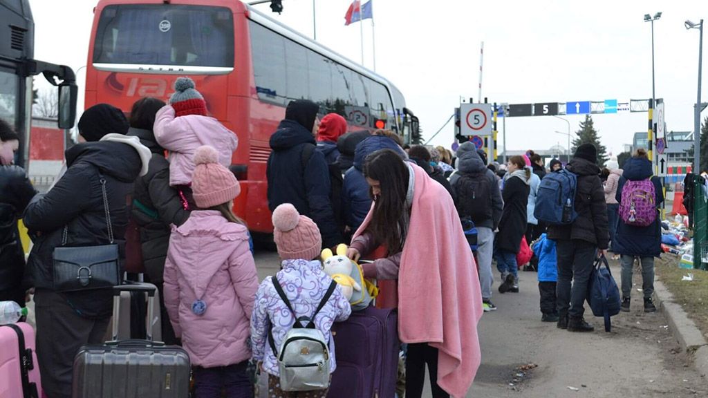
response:
{"label": "pink blanket draped over the long-haired woman's shoulders", "polygon": [[[438,385],[452,397],[464,397],[481,361],[476,263],[450,195],[423,169],[411,169],[415,183],[399,268],[399,337],[438,348]],[[372,210],[354,237],[365,231]]]}

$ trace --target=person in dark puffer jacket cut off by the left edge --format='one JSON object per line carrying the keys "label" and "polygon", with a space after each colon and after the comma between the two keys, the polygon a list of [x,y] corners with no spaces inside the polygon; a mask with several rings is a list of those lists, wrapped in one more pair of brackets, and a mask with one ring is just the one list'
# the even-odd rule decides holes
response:
{"label": "person in dark puffer jacket cut off by the left edge", "polygon": [[25,169],[14,166],[19,137],[0,119],[0,301],[11,300],[25,307],[23,285],[25,251],[22,249],[17,220],[35,195]]}

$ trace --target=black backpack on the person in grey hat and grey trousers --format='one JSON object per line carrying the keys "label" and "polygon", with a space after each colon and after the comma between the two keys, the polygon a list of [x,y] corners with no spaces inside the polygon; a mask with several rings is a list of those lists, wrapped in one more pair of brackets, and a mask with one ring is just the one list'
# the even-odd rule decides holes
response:
{"label": "black backpack on the person in grey hat and grey trousers", "polygon": [[491,191],[486,169],[481,173],[457,173],[455,176],[451,183],[457,193],[455,207],[460,217],[469,217],[475,224],[491,220]]}

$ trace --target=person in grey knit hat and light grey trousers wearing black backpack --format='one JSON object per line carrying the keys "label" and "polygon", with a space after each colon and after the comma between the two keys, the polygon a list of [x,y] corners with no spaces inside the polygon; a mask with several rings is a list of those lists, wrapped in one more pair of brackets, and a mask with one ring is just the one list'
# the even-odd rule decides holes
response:
{"label": "person in grey knit hat and light grey trousers wearing black backpack", "polygon": [[[469,178],[470,183],[465,181],[466,178]],[[469,217],[477,228],[477,265],[482,305],[484,311],[494,311],[496,306],[491,302],[491,285],[494,279],[491,273],[491,258],[494,252],[494,230],[501,220],[504,204],[496,175],[486,168],[472,142],[464,142],[457,149],[457,173],[450,177],[450,186],[459,217]],[[476,192],[469,192],[469,187],[476,188],[476,191],[486,191],[486,198],[478,200]]]}

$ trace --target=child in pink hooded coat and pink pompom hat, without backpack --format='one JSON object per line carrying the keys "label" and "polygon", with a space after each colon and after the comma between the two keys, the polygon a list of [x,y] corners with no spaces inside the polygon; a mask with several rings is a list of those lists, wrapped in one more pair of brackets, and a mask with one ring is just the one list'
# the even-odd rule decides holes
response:
{"label": "child in pink hooded coat and pink pompom hat, without backpack", "polygon": [[195,397],[253,397],[246,372],[258,275],[249,235],[231,203],[239,181],[212,147],[196,150],[192,188],[198,210],[172,229],[165,262],[165,307],[193,365]]}

